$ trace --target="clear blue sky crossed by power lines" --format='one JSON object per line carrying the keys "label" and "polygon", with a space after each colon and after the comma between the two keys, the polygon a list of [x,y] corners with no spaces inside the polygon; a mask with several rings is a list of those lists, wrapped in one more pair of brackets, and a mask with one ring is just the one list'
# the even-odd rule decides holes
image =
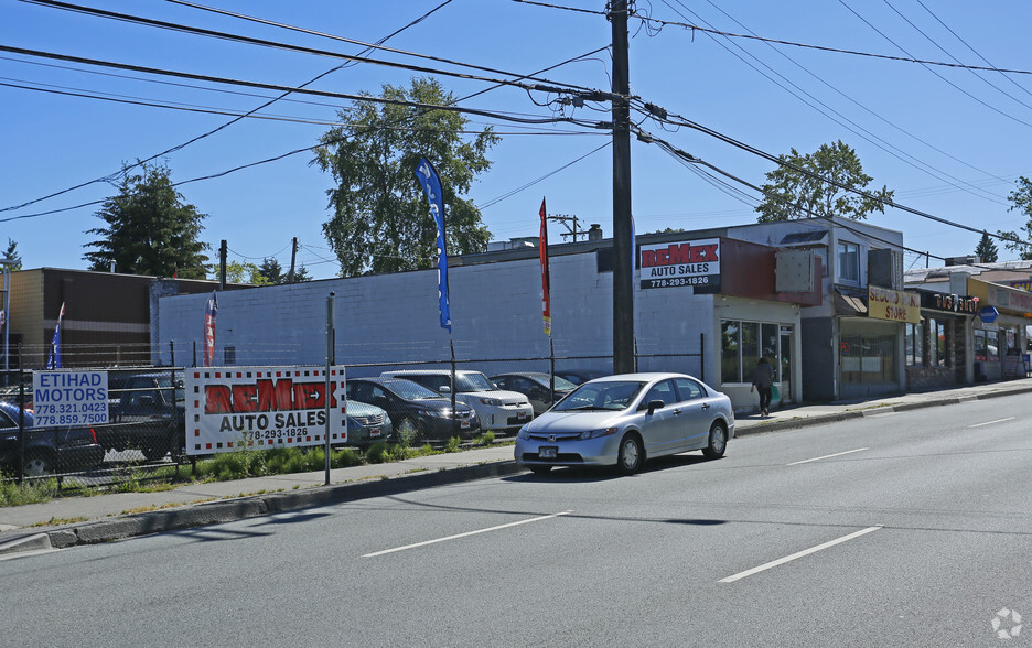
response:
{"label": "clear blue sky crossed by power lines", "polygon": [[[419,18],[441,0],[300,3],[209,0],[211,7],[335,36],[373,42]],[[557,0],[555,4],[598,12],[602,0]],[[170,22],[357,54],[357,45],[302,34],[169,1],[92,0],[90,7]],[[1032,71],[1028,25],[1032,4],[888,0],[783,2],[741,0],[653,0],[638,2],[644,15],[738,34],[997,68]],[[929,11],[931,10],[931,11]],[[933,13],[934,12],[934,13]],[[606,46],[610,23],[596,13],[573,12],[513,0],[453,0],[387,44],[408,52],[530,74]],[[300,86],[340,65],[335,58],[286,52],[96,18],[14,0],[0,0],[0,44],[284,86]],[[905,53],[904,53],[905,51]],[[395,53],[376,58],[462,71]],[[55,67],[60,66],[60,67]],[[608,89],[609,53],[550,71],[557,83]],[[103,74],[96,74],[96,73]],[[372,64],[337,69],[311,87],[335,93],[378,94],[384,84],[407,85],[415,73]],[[475,73],[498,77],[492,73]],[[118,75],[118,76],[112,76]],[[215,86],[0,53],[0,208],[20,205],[118,171],[123,162],[178,147],[229,121],[229,117],[44,93],[117,96],[132,101],[204,107],[228,112],[256,108],[276,93]],[[439,77],[462,97],[491,84]],[[161,83],[153,83],[161,82]],[[171,85],[178,84],[178,85]],[[195,87],[186,87],[186,86]],[[895,190],[896,202],[978,229],[1019,229],[1007,194],[1019,175],[1032,175],[1032,78],[965,68],[843,54],[755,40],[713,36],[681,26],[631,21],[631,86],[643,101],[662,106],[730,138],[778,154],[791,148],[811,152],[842,140],[853,147],[864,171]],[[216,91],[217,90],[217,91]],[[228,90],[228,91],[227,91]],[[256,96],[258,95],[258,96]],[[531,98],[534,100],[531,100]],[[346,101],[292,96],[165,156],[176,182],[282,155],[316,143]],[[559,115],[556,99],[498,88],[462,105],[527,117]],[[588,121],[608,119],[589,107],[562,109]],[[283,120],[281,118],[287,118]],[[636,121],[642,115],[633,115]],[[471,126],[493,125],[502,142],[491,150],[492,169],[469,197],[479,205],[496,198],[605,144],[604,131],[570,125],[515,125],[471,117]],[[312,123],[314,122],[314,123]],[[688,129],[642,128],[753,184],[764,182],[771,162]],[[576,131],[576,132],[574,132]],[[572,134],[571,134],[572,133]],[[311,166],[310,153],[284,158],[214,180],[184,184],[185,199],[208,214],[202,238],[228,241],[230,260],[259,262],[275,257],[284,268],[290,239],[302,245],[299,263],[315,278],[334,277],[337,264],[322,235],[329,218],[327,174]],[[696,229],[755,222],[751,198],[730,194],[663,152],[655,144],[632,147],[632,205],[638,233],[666,227]],[[415,183],[415,176],[413,176]],[[551,214],[576,215],[612,234],[612,150],[588,155],[525,191],[483,209],[493,240],[536,236],[541,197]],[[0,246],[18,242],[25,267],[85,268],[85,231],[101,222],[98,205],[51,215],[52,209],[103,201],[114,188],[93,183],[20,209],[0,212]],[[18,216],[31,216],[3,220]],[[875,214],[874,225],[900,229],[907,247],[933,256],[971,253],[978,235],[900,210]],[[560,239],[561,225],[550,228]],[[1017,258],[998,244],[1001,260]],[[909,253],[905,266],[924,266]],[[937,264],[932,259],[932,264]]]}

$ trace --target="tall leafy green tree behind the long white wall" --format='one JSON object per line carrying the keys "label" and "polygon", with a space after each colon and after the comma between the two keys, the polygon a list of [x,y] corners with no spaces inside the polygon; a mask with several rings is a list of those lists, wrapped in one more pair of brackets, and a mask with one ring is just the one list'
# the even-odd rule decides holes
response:
{"label": "tall leafy green tree behind the long white wall", "polygon": [[[411,86],[385,85],[393,101],[443,106],[455,98],[432,78]],[[437,228],[416,177],[426,156],[441,179],[449,253],[486,249],[491,233],[480,209],[461,196],[476,174],[490,169],[487,150],[499,141],[491,128],[462,139],[467,120],[458,112],[401,104],[355,101],[340,111],[348,125],[322,137],[313,164],[333,175],[333,215],[323,233],[341,263],[342,277],[431,268]]]}

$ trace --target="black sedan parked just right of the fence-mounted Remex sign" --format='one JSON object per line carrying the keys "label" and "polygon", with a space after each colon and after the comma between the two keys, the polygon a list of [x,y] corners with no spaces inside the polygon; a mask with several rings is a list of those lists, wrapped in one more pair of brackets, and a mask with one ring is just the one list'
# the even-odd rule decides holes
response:
{"label": "black sedan parked just right of the fence-mounted Remex sign", "polygon": [[[386,410],[399,442],[411,445],[454,436],[451,399],[418,382],[404,378],[350,378],[347,399]],[[462,438],[480,431],[476,414],[461,402],[455,403],[454,425]]]}

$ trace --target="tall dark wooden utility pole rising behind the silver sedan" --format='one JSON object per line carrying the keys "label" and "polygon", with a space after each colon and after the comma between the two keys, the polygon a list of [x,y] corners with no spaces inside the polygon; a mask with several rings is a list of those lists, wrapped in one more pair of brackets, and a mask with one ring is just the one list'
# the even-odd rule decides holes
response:
{"label": "tall dark wooden utility pole rising behind the silver sedan", "polygon": [[631,263],[631,95],[627,13],[633,0],[611,0],[613,25],[613,371],[634,371]]}

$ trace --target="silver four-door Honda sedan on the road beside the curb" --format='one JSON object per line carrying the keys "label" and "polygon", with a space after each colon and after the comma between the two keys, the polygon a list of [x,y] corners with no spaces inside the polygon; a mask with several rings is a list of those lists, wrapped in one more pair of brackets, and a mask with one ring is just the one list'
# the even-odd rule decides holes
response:
{"label": "silver four-door Honda sedan on the road beside the curb", "polygon": [[723,456],[734,438],[731,399],[684,374],[623,374],[584,382],[519,430],[516,462],[616,466],[630,475],[646,458],[701,450]]}

